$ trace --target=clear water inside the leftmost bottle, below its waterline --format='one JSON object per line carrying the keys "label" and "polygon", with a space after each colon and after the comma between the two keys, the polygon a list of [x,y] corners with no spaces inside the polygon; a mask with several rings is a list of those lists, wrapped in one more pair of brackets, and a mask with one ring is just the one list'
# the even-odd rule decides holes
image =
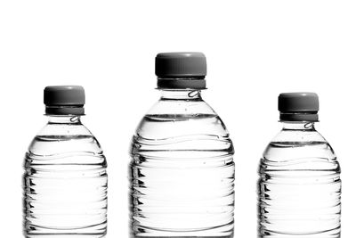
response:
{"label": "clear water inside the leftmost bottle, below its waterline", "polygon": [[36,136],[24,165],[25,237],[104,237],[106,166],[93,136]]}

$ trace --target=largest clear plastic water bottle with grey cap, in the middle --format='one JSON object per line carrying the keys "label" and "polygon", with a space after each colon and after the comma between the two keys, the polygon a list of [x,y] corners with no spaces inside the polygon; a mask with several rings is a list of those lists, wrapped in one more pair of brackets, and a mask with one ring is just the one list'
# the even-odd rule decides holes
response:
{"label": "largest clear plastic water bottle with grey cap, in the middle", "polygon": [[131,237],[232,237],[233,146],[203,101],[203,53],[158,53],[158,103],[131,145]]}

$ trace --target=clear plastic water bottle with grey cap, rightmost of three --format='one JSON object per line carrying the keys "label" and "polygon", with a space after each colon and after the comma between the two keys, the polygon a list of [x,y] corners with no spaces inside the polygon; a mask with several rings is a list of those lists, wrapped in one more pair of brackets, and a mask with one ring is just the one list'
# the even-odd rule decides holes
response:
{"label": "clear plastic water bottle with grey cap, rightmost of three", "polygon": [[259,168],[259,237],[340,237],[340,167],[314,127],[318,95],[279,94],[279,111],[283,129]]}

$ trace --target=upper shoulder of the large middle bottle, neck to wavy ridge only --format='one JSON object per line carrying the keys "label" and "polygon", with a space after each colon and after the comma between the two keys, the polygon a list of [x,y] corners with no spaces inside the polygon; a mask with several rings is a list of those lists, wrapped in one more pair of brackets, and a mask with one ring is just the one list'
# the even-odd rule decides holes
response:
{"label": "upper shoulder of the large middle bottle, neck to wavy ridge only", "polygon": [[229,138],[223,120],[203,100],[159,100],[142,118],[135,135],[148,139],[187,135]]}

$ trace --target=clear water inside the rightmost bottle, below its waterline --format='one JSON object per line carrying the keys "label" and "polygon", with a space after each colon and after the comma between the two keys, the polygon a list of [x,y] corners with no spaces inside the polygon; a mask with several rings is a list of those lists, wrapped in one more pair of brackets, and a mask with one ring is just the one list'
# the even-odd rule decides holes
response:
{"label": "clear water inside the rightmost bottle, below its waterline", "polygon": [[259,237],[340,237],[340,168],[331,151],[324,142],[269,145],[260,166]]}

